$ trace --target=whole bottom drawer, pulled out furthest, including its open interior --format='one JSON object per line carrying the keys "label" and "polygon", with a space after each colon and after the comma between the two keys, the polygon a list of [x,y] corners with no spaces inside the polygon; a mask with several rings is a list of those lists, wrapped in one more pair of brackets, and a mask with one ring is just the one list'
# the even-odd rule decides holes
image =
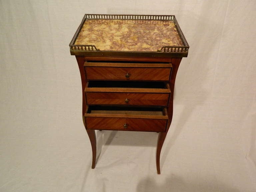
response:
{"label": "whole bottom drawer, pulled out furthest, including its open interior", "polygon": [[165,132],[166,108],[89,106],[85,113],[87,129]]}

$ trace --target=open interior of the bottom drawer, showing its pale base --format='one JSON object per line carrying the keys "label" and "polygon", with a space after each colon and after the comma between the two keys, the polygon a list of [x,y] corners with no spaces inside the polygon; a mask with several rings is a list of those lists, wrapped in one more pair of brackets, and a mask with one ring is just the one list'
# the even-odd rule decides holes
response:
{"label": "open interior of the bottom drawer, showing its pale base", "polygon": [[166,116],[162,107],[131,107],[131,106],[89,106],[87,113],[91,114],[125,114]]}

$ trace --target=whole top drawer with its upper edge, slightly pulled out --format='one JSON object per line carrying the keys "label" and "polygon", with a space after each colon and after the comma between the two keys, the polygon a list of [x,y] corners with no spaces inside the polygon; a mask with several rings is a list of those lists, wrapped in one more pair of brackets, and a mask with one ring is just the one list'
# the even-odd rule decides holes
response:
{"label": "whole top drawer with its upper edge, slightly pulled out", "polygon": [[85,62],[88,80],[169,81],[171,63]]}

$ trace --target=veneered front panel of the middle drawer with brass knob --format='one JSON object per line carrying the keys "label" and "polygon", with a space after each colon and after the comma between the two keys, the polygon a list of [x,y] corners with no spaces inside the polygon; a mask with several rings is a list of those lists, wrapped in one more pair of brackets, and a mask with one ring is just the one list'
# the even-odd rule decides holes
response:
{"label": "veneered front panel of the middle drawer with brass knob", "polygon": [[88,105],[159,105],[168,106],[169,93],[86,92]]}

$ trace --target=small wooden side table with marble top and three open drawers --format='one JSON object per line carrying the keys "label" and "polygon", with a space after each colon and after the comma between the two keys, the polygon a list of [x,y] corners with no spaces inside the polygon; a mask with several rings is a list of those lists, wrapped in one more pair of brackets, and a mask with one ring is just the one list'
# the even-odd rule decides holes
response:
{"label": "small wooden side table with marble top and three open drawers", "polygon": [[174,15],[85,14],[70,46],[82,80],[82,116],[95,130],[159,132],[156,167],[173,115],[175,78],[189,45]]}

